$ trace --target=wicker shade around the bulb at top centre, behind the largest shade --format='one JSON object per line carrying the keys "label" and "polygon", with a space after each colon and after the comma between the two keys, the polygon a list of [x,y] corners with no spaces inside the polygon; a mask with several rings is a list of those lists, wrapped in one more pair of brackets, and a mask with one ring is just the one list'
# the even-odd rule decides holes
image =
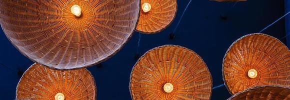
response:
{"label": "wicker shade around the bulb at top centre, behind the largest shade", "polygon": [[177,12],[176,0],[141,0],[151,4],[149,12],[140,8],[140,16],[136,30],[146,34],[157,33],[171,24]]}

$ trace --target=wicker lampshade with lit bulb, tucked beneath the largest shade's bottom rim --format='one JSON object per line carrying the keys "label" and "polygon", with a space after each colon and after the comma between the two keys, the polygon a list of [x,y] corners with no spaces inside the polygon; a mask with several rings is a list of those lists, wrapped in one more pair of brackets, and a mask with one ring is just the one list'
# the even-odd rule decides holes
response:
{"label": "wicker lampshade with lit bulb, tucked beneath the largest shade's bottom rim", "polygon": [[53,70],[31,65],[16,87],[16,99],[96,99],[96,86],[85,69]]}

